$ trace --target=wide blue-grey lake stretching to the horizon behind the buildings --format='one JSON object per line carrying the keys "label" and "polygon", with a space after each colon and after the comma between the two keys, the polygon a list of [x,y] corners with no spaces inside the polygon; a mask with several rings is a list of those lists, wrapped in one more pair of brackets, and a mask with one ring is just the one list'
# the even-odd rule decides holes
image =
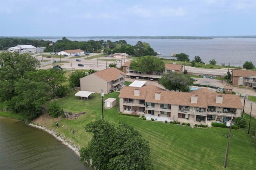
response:
{"label": "wide blue-grey lake stretching to the horizon behind the buildings", "polygon": [[[60,38],[61,39],[61,38]],[[110,40],[112,42],[120,39],[89,39],[68,38],[69,40]],[[58,39],[46,39],[56,42]],[[122,39],[128,44],[136,45],[138,41],[147,42],[155,52],[160,52],[159,57],[172,58],[172,53],[185,53],[189,55],[190,61],[195,56],[200,56],[203,62],[209,63],[214,59],[217,65],[230,63],[230,66],[241,66],[246,61],[251,61],[256,66],[256,38],[214,38],[212,40],[176,40],[176,39]]]}

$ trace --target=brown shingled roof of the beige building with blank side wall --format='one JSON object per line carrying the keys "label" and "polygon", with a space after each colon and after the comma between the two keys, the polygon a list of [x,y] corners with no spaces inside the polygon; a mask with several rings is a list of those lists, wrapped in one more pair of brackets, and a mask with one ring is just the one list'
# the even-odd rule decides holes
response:
{"label": "brown shingled roof of the beige building with blank side wall", "polygon": [[93,74],[102,78],[103,80],[106,80],[107,82],[116,80],[120,74],[125,76],[124,72],[122,72],[114,67],[111,67],[111,68],[108,68],[105,70],[101,70],[101,71],[93,73]]}

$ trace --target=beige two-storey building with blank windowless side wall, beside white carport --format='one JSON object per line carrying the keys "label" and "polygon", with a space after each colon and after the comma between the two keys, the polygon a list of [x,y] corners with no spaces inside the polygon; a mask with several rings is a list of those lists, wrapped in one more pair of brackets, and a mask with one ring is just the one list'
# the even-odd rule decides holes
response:
{"label": "beige two-storey building with blank windowless side wall, beside white carport", "polygon": [[80,85],[84,91],[101,93],[103,89],[103,92],[108,94],[125,85],[125,74],[111,67],[80,78]]}

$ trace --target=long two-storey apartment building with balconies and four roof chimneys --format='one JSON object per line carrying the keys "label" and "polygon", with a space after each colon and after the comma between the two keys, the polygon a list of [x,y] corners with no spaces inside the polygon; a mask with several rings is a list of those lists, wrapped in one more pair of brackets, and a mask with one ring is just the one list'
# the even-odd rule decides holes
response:
{"label": "long two-storey apartment building with balconies and four roof chimneys", "polygon": [[167,117],[181,122],[226,122],[240,117],[242,102],[238,95],[217,94],[207,88],[192,92],[166,91],[154,85],[125,86],[118,96],[120,112]]}

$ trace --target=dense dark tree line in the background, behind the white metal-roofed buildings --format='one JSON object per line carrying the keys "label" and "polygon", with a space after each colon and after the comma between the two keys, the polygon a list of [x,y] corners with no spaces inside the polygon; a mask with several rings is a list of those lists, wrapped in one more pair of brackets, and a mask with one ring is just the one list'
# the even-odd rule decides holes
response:
{"label": "dense dark tree line in the background, behind the white metal-roofed buildings", "polygon": [[[52,43],[53,46],[49,44]],[[104,54],[113,53],[126,53],[133,56],[146,56],[152,55],[156,56],[156,52],[150,47],[150,44],[146,42],[139,41],[135,46],[127,44],[125,40],[119,40],[112,42],[110,40],[89,40],[89,41],[71,41],[66,37],[56,42],[36,40],[36,39],[26,39],[26,38],[0,38],[0,46],[3,50],[7,50],[12,46],[17,45],[32,45],[35,47],[46,47],[44,52],[59,52],[61,50],[74,50],[80,49],[85,52],[98,52],[100,53],[103,49]]]}

